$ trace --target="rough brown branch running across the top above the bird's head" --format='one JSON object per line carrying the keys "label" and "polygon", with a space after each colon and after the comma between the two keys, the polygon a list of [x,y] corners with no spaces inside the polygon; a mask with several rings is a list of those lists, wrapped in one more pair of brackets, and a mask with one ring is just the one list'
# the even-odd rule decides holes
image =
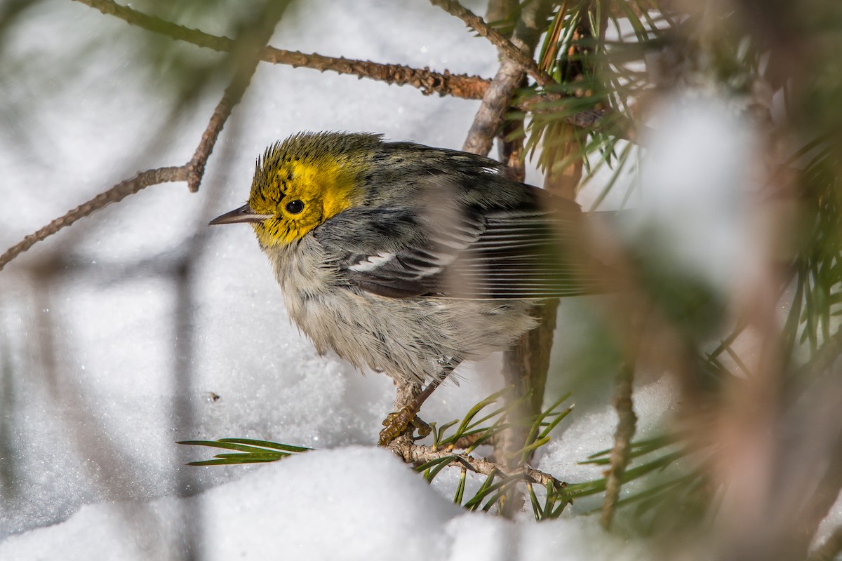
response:
{"label": "rough brown branch running across the top above the bird's head", "polygon": [[[181,40],[218,52],[229,52],[233,49],[234,41],[190,29],[183,25],[173,24],[164,19],[138,12],[134,9],[120,6],[113,0],[76,0],[91,8],[96,8],[106,15],[112,15],[124,20],[127,24],[147,29],[154,33],[167,35],[175,40]],[[338,74],[350,74],[360,78],[369,78],[388,84],[412,86],[424,93],[438,93],[451,95],[456,98],[481,99],[488,83],[482,77],[467,76],[465,74],[451,74],[449,71],[434,72],[429,68],[418,69],[397,64],[379,64],[370,61],[355,61],[343,57],[322,56],[315,53],[302,53],[297,50],[275,49],[266,46],[260,50],[259,59],[271,64],[284,64],[293,68],[312,68],[320,72],[329,70]]]}

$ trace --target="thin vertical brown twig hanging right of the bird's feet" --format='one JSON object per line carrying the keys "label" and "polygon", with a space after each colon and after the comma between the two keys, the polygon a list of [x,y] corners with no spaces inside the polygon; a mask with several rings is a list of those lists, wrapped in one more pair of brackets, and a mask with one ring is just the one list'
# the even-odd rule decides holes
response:
{"label": "thin vertical brown twig hanging right of the bird's feet", "polygon": [[623,364],[620,372],[617,373],[616,394],[613,403],[619,421],[614,435],[614,447],[611,449],[611,467],[605,476],[605,500],[602,503],[602,515],[600,516],[600,524],[606,529],[610,527],[611,519],[614,517],[617,501],[620,499],[623,474],[626,473],[626,466],[632,452],[632,437],[634,437],[637,424],[637,415],[632,409],[633,379],[634,366],[632,363]]}

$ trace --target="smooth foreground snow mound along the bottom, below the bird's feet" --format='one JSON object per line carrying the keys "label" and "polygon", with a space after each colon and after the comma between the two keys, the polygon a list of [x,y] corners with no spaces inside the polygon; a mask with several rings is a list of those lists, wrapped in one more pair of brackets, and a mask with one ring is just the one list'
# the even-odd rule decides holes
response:
{"label": "smooth foreground snow mound along the bottom, below the bird's feet", "polygon": [[466,513],[392,453],[353,446],[267,465],[189,499],[83,506],[62,524],[9,537],[0,553],[131,561],[178,558],[186,544],[209,561],[632,559],[642,552],[584,519],[536,526]]}

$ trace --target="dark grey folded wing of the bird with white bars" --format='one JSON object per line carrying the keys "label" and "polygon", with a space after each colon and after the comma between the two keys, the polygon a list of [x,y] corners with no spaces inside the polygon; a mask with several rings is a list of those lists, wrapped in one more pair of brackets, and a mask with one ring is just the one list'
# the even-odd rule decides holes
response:
{"label": "dark grey folded wing of the bird with white bars", "polygon": [[349,209],[313,230],[351,285],[408,298],[543,299],[598,292],[573,258],[578,206]]}

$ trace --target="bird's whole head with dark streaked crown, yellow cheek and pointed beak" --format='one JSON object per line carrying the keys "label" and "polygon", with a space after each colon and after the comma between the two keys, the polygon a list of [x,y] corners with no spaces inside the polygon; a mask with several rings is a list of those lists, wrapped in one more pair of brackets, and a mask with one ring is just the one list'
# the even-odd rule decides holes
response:
{"label": "bird's whole head with dark streaked crown, yellow cheek and pointed beak", "polygon": [[248,203],[211,220],[247,222],[264,249],[287,246],[365,199],[364,177],[378,135],[301,133],[264,151]]}

